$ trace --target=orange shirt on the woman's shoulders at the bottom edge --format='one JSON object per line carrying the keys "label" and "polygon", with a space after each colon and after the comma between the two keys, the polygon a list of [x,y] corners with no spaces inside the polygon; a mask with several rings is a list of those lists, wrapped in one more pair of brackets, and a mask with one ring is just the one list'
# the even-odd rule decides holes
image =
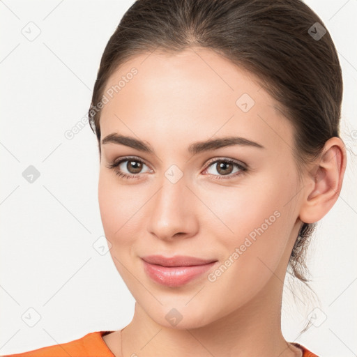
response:
{"label": "orange shirt on the woman's shoulders at the bottom edge", "polygon": [[[97,331],[87,333],[78,340],[62,344],[35,349],[33,351],[23,352],[22,354],[8,354],[3,357],[115,357],[107,344],[102,339],[102,335],[114,331]],[[316,354],[305,349],[301,344],[296,344],[303,350],[303,357],[318,357]]]}

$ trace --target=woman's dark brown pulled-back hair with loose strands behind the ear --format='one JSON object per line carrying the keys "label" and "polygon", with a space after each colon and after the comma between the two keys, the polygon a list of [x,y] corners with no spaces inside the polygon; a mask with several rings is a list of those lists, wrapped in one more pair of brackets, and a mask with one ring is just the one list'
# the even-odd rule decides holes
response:
{"label": "woman's dark brown pulled-back hair with loose strands behind the ear", "polygon": [[[318,24],[316,24],[318,22]],[[100,109],[109,77],[136,55],[176,54],[205,47],[249,70],[278,101],[295,129],[298,167],[340,137],[342,72],[326,26],[300,0],[139,0],[123,15],[105,47],[89,108],[98,138]],[[289,273],[308,281],[307,245],[316,224],[303,223],[289,259]]]}

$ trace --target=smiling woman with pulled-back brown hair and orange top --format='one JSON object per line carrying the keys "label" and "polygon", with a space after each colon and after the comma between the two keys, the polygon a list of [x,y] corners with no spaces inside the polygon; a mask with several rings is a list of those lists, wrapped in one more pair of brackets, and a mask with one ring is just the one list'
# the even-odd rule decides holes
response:
{"label": "smiling woman with pulled-back brown hair and orange top", "polygon": [[342,188],[341,100],[333,41],[302,1],[136,1],[89,109],[134,317],[11,356],[317,356],[284,340],[281,300]]}

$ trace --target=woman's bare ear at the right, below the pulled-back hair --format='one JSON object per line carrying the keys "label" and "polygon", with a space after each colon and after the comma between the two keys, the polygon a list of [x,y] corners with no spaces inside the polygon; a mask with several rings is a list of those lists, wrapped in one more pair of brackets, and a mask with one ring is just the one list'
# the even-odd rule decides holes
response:
{"label": "woman's bare ear at the right, below the pulled-back hair", "polygon": [[347,155],[342,140],[331,137],[324,145],[321,155],[306,174],[303,202],[299,218],[305,223],[314,223],[330,211],[342,188]]}

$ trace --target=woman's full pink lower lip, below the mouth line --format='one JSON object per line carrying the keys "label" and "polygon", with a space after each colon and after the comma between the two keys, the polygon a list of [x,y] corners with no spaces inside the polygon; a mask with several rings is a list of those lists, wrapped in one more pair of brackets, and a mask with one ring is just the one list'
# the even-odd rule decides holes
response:
{"label": "woman's full pink lower lip, below the mouth line", "polygon": [[197,276],[206,273],[215,263],[217,261],[195,266],[160,266],[144,261],[144,269],[146,274],[155,282],[167,287],[180,287]]}

